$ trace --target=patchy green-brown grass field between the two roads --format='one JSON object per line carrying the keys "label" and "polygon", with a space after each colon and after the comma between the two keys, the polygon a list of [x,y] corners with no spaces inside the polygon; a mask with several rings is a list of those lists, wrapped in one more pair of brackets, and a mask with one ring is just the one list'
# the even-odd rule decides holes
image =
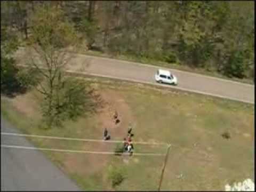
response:
{"label": "patchy green-brown grass field between the two roads", "polygon": [[[134,141],[173,145],[162,190],[224,190],[227,183],[254,180],[253,105],[105,78],[85,80],[98,91],[105,105],[96,114],[65,122],[62,128],[39,128],[41,117],[35,91],[14,99],[1,96],[1,112],[24,133],[58,137],[102,139],[103,127],[108,127],[113,140],[122,140],[132,122]],[[121,118],[119,125],[111,120],[113,110]],[[221,137],[225,131],[230,133],[230,139]],[[106,143],[30,140],[37,146],[63,149],[114,151],[116,147]],[[138,153],[166,150],[134,147]],[[84,190],[113,190],[113,172],[124,177],[117,190],[157,190],[164,161],[158,156],[45,154]]]}

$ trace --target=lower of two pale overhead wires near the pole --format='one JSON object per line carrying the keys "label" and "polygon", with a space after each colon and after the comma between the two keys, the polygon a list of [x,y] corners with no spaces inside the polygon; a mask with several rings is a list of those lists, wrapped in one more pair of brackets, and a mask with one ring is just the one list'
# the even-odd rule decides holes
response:
{"label": "lower of two pale overhead wires near the pole", "polygon": [[[3,147],[3,148],[16,148],[16,149],[30,149],[30,150],[58,151],[58,152],[66,152],[66,153],[84,153],[84,154],[102,154],[102,155],[115,155],[115,154],[130,155],[130,154],[126,154],[126,153],[115,153],[115,152],[106,152],[106,151],[68,150],[68,149],[25,147],[25,146],[13,146],[13,145],[1,145],[1,147]],[[132,155],[138,155],[138,156],[164,156],[165,154],[133,153]]]}

